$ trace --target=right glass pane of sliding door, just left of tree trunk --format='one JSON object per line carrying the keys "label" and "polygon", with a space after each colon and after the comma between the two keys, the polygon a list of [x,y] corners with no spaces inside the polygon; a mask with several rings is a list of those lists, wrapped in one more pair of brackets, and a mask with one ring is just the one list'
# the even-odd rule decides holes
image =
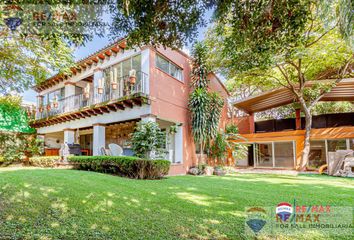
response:
{"label": "right glass pane of sliding door, just left of tree trunk", "polygon": [[293,168],[294,167],[294,146],[292,142],[274,143],[275,167]]}

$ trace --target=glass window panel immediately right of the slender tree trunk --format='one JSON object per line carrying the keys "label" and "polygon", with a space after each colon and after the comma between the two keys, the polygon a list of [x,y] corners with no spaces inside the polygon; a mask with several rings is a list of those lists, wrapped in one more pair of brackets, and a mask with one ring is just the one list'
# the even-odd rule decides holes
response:
{"label": "glass window panel immediately right of the slender tree trunk", "polygon": [[324,164],[326,164],[326,142],[310,141],[308,168],[318,169]]}

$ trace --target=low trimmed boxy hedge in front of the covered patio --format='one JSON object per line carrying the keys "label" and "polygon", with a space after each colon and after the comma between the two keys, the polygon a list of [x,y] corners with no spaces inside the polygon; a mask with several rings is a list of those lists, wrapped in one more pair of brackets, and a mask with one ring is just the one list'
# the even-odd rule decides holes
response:
{"label": "low trimmed boxy hedge in front of the covered patio", "polygon": [[170,161],[130,156],[71,156],[68,161],[79,170],[118,174],[137,179],[159,179],[168,174]]}

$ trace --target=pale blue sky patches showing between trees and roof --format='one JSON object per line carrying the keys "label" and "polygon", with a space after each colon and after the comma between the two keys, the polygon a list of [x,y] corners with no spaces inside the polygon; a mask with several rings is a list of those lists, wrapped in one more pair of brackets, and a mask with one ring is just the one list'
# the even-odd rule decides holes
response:
{"label": "pale blue sky patches showing between trees and roof", "polygon": [[[209,19],[211,19],[211,15],[212,15],[212,10],[208,11],[205,14],[205,19],[207,19],[209,21]],[[109,18],[109,16],[104,16],[104,21],[107,21],[107,18]],[[204,38],[204,34],[205,34],[206,30],[207,30],[207,26],[206,27],[199,27],[197,40],[200,41]],[[93,52],[102,49],[103,47],[105,47],[109,43],[110,43],[110,39],[108,38],[108,36],[107,37],[94,36],[92,41],[85,43],[85,46],[81,46],[74,51],[75,61],[78,61],[80,59],[87,57],[88,55],[92,54]],[[186,53],[189,54],[191,46],[192,46],[192,43],[188,43],[182,50],[184,50]],[[36,102],[37,93],[32,89],[25,91],[21,95],[23,97],[24,103],[35,103]]]}

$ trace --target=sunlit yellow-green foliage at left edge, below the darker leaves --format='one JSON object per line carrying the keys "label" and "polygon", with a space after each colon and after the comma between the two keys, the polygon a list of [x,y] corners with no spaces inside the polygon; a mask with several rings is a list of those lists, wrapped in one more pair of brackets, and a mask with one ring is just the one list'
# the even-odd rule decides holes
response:
{"label": "sunlit yellow-green foliage at left edge, below the darker leaves", "polygon": [[72,50],[61,40],[0,38],[0,93],[23,92],[55,71],[68,72],[72,64]]}

